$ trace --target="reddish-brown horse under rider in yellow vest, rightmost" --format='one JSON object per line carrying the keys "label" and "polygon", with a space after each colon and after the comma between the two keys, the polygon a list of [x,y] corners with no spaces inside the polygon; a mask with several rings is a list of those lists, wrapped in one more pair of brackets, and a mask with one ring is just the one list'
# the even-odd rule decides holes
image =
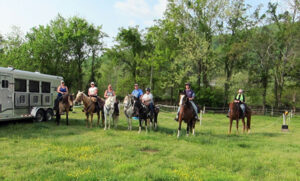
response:
{"label": "reddish-brown horse under rider in yellow vest, rightmost", "polygon": [[[246,105],[245,105],[246,106]],[[251,109],[246,106],[246,113],[243,116],[242,110],[239,103],[231,102],[229,103],[229,131],[228,134],[231,134],[232,121],[236,120],[236,130],[239,129],[239,119],[242,119],[243,122],[243,133],[247,129],[247,132],[250,133],[251,125]],[[245,117],[247,117],[247,126],[245,125]]]}

